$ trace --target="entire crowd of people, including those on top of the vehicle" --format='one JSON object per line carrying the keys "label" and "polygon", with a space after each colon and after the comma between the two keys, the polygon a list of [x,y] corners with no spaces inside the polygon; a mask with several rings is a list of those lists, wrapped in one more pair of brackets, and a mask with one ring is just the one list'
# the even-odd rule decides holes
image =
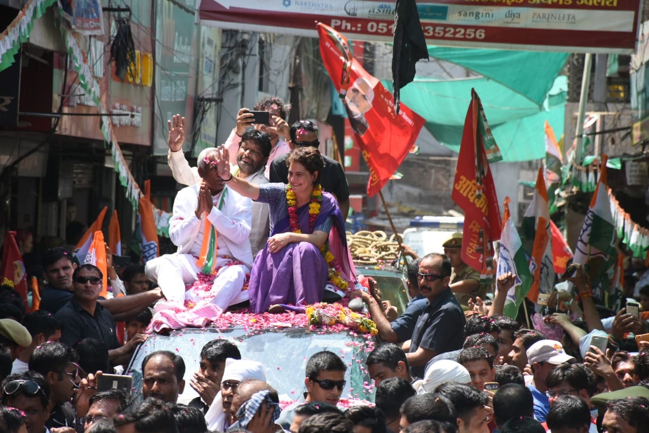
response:
{"label": "entire crowd of people, including those on top of the vehicle", "polygon": [[[201,151],[195,168],[182,153],[184,119],[169,121],[169,166],[187,185],[170,223],[175,254],[117,272],[106,248],[110,291],[100,296],[102,270],[50,248],[40,257],[40,309],[27,314],[3,281],[1,432],[648,431],[649,343],[635,339],[646,332],[643,315],[596,305],[577,267],[575,295],[552,296],[540,323],[523,309],[507,317],[516,276],[485,284],[461,259],[461,233],[444,254],[402,248],[412,259],[410,302],[398,314],[373,279],[356,274],[345,239],[349,187],[340,164],[320,154],[315,124],[289,126],[278,98],[254,109],[269,111],[270,124],[239,110],[227,142]],[[638,287],[643,306],[647,287]],[[100,389],[154,331],[204,325],[228,308],[302,314],[354,298],[378,330],[365,360],[372,403],[341,407],[348,363],[329,350],[286,377],[303,381],[304,393],[280,401],[270,365],[223,337],[202,347],[198,365],[158,350],[141,362],[140,389]],[[198,397],[181,404],[186,382]]]}

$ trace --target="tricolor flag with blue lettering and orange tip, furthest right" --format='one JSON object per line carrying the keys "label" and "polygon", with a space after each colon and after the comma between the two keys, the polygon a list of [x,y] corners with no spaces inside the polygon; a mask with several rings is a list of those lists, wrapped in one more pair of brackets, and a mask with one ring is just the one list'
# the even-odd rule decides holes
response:
{"label": "tricolor flag with blue lettering and orange tip, furthest right", "polygon": [[[589,265],[589,276],[593,289],[600,285],[600,280],[617,259],[615,253],[615,222],[611,215],[611,202],[606,183],[606,155],[602,155],[600,179],[597,182],[591,204],[583,218],[582,231],[579,233],[574,250],[574,263]],[[601,295],[601,294],[600,294]]]}

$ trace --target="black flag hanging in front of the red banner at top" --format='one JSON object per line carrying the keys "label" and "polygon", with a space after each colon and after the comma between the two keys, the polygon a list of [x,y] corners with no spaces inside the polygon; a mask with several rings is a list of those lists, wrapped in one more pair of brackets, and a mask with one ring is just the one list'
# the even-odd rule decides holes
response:
{"label": "black flag hanging in front of the red banner at top", "polygon": [[415,0],[397,0],[395,38],[392,51],[392,84],[395,110],[399,112],[399,90],[415,78],[415,64],[428,60],[426,38],[419,21]]}

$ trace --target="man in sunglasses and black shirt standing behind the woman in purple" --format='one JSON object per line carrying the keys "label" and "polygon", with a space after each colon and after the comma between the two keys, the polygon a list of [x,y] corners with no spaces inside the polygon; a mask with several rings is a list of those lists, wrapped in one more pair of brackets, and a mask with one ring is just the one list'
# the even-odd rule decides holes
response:
{"label": "man in sunglasses and black shirt standing behind the woman in purple", "polygon": [[[291,150],[299,147],[319,148],[318,127],[310,120],[299,120],[291,125]],[[286,165],[288,153],[276,157],[271,163],[269,179],[271,182],[288,183],[288,166]],[[343,166],[330,157],[324,155],[324,169],[320,176],[320,183],[323,191],[331,192],[336,196],[343,218],[349,214],[349,185]]]}

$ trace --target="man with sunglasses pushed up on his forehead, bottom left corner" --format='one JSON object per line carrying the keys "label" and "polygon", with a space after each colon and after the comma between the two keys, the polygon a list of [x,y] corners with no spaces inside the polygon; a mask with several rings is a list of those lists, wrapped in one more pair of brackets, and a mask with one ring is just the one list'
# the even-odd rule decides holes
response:
{"label": "man with sunglasses pushed up on his forehead, bottom left corner", "polygon": [[2,382],[2,404],[25,412],[27,433],[48,432],[45,421],[49,417],[49,385],[42,374],[26,371],[12,374]]}

